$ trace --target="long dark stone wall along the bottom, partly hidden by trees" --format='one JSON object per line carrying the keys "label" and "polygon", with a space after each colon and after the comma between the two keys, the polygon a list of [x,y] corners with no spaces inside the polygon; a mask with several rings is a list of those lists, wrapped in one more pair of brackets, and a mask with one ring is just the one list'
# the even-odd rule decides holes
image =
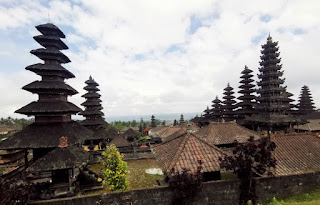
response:
{"label": "long dark stone wall along the bottom, partly hidden by trees", "polygon": [[[206,182],[193,200],[186,204],[234,205],[239,198],[240,181]],[[258,178],[257,193],[260,201],[272,197],[286,197],[309,191],[320,185],[320,173],[291,175],[283,177]],[[77,204],[171,204],[172,193],[168,187],[114,192],[111,194],[80,196],[65,199],[30,202],[30,204],[77,205]]]}

